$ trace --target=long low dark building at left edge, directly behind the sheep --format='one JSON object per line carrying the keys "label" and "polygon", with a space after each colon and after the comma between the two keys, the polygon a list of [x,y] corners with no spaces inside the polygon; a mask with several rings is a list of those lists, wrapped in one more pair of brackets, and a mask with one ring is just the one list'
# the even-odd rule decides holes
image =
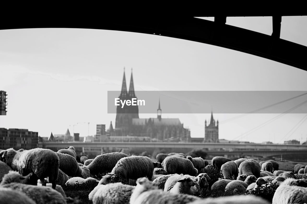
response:
{"label": "long low dark building at left edge, directly behind the sheep", "polygon": [[2,150],[8,148],[29,150],[37,148],[37,144],[38,132],[31,132],[28,129],[0,128],[0,149]]}

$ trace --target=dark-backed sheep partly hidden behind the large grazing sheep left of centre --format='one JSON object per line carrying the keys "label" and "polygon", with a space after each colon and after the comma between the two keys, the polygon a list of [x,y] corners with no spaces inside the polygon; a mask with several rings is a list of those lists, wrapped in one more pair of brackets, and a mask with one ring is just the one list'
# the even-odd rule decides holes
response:
{"label": "dark-backed sheep partly hidden behind the large grazing sheep left of centre", "polygon": [[[112,152],[107,154],[100,154],[95,157],[87,168],[90,170],[91,175],[101,174],[103,172],[111,172],[115,167],[116,163],[125,157],[129,157],[127,154],[122,152]],[[87,161],[87,160],[86,160]]]}

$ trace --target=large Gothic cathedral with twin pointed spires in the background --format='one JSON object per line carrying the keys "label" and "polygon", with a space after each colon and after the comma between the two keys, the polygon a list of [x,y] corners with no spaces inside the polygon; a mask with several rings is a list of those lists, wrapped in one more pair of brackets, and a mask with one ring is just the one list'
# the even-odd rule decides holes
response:
{"label": "large Gothic cathedral with twin pointed spires in the background", "polygon": [[[126,87],[126,76],[122,80],[122,90],[119,95],[120,100],[132,100],[137,98],[134,93],[134,83],[131,72],[129,91]],[[172,141],[172,142],[190,142],[190,130],[183,127],[179,118],[162,118],[160,99],[157,118],[139,118],[138,106],[117,106],[115,128],[112,122],[107,132],[110,136],[139,136],[150,137],[151,141]]]}

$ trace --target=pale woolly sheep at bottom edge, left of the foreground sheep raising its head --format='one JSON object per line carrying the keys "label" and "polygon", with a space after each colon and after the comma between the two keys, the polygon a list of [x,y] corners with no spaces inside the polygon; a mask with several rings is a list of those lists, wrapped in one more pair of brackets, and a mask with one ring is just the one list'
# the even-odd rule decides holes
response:
{"label": "pale woolly sheep at bottom edge, left of the foreground sheep raising its head", "polygon": [[[93,204],[129,204],[130,196],[134,190],[134,186],[114,183],[101,185],[97,189],[91,200]],[[89,199],[90,199],[89,195]]]}

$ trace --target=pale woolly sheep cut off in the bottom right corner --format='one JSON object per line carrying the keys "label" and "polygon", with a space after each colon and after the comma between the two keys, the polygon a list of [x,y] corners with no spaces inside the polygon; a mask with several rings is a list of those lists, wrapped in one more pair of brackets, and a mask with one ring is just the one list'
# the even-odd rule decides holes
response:
{"label": "pale woolly sheep cut off in the bottom right corner", "polygon": [[306,203],[307,188],[298,186],[299,183],[299,180],[286,179],[276,189],[272,204]]}

